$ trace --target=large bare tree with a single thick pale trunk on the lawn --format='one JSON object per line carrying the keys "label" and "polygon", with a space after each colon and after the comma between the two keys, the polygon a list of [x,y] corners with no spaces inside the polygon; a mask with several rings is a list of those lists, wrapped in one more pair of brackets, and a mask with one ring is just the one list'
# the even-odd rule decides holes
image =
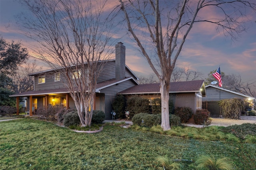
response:
{"label": "large bare tree with a single thick pale trunk on the lawn", "polygon": [[[160,81],[162,123],[164,130],[169,124],[170,78],[188,33],[196,23],[207,22],[217,26],[217,31],[236,39],[244,31],[247,10],[256,10],[253,1],[234,0],[119,0],[128,31],[141,53]],[[229,8],[227,8],[229,7]],[[202,9],[217,8],[218,16],[206,18],[199,15]],[[219,18],[218,18],[219,17]],[[156,52],[160,65],[158,72],[149,51]]]}

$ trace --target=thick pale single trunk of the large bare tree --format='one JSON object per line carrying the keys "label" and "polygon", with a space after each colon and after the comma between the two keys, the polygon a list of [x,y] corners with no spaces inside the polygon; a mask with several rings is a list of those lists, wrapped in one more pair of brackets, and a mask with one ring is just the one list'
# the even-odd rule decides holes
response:
{"label": "thick pale single trunk of the large bare tree", "polygon": [[[164,80],[160,84],[160,94],[161,94],[161,117],[162,123],[161,127],[164,131],[170,130],[170,118],[169,118],[169,84],[166,84]],[[167,90],[168,89],[168,90]]]}

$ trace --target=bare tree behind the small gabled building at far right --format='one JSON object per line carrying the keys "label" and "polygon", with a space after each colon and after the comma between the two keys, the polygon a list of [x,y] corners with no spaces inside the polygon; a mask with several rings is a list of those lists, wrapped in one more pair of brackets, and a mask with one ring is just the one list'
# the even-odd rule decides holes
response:
{"label": "bare tree behind the small gabled building at far right", "polygon": [[223,81],[224,88],[239,92],[248,96],[256,96],[256,81],[242,82],[241,75],[231,74],[226,75]]}

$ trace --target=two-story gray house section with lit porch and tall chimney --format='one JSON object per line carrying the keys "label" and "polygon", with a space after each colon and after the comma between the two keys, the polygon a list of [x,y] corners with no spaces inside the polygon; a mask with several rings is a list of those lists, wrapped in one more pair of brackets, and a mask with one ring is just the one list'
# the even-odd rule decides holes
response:
{"label": "two-story gray house section with lit porch and tall chimney", "polygon": [[[138,77],[125,64],[125,46],[123,43],[116,44],[116,58],[107,61],[104,64],[103,71],[97,79],[96,98],[94,101],[95,110],[102,110],[106,114],[106,119],[111,118],[112,102],[116,95],[138,85]],[[73,76],[79,76],[81,72],[74,72]],[[32,115],[33,111],[39,107],[61,105],[66,108],[76,109],[74,100],[70,92],[65,87],[65,78],[58,69],[44,70],[29,74],[34,76],[34,90],[13,94],[10,97],[16,97],[17,114],[19,112],[19,98],[27,97],[27,109]]]}

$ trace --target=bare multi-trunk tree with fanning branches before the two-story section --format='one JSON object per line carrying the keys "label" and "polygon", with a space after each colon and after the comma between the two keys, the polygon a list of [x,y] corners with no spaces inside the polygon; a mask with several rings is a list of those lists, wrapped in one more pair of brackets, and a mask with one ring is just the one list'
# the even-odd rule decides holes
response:
{"label": "bare multi-trunk tree with fanning branches before the two-story section", "polygon": [[40,59],[64,76],[82,126],[90,126],[96,80],[114,52],[106,1],[24,0],[32,18],[22,29],[40,46]]}

